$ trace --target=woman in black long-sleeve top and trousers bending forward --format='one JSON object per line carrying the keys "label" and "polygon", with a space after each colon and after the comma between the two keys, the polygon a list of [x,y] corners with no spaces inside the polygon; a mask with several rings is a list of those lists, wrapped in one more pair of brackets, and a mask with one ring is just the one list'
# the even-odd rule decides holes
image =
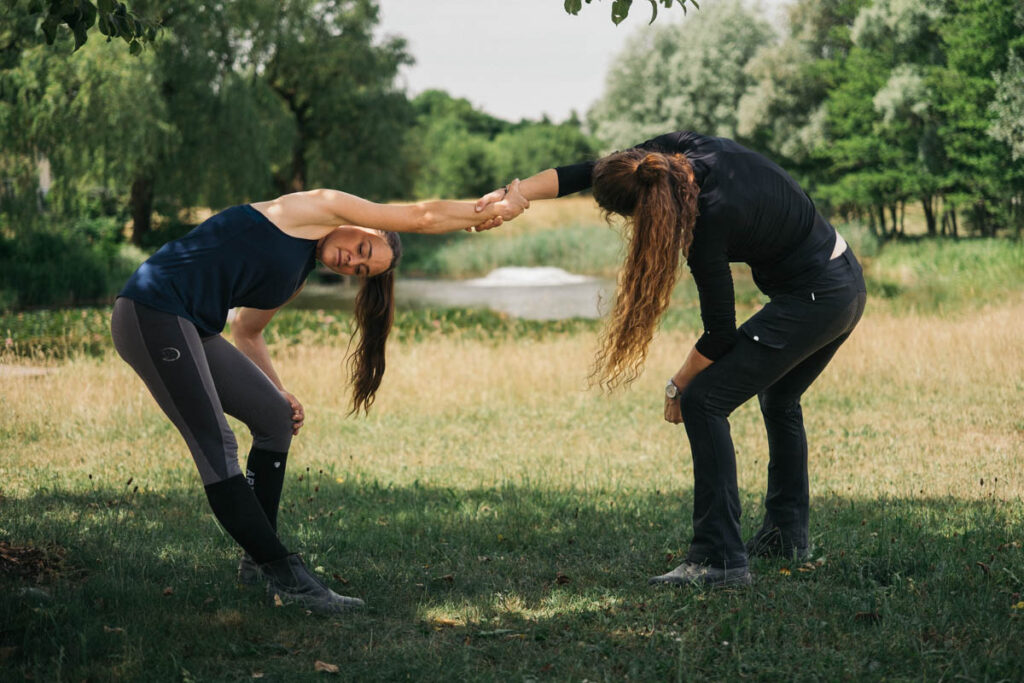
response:
{"label": "woman in black long-sleeve top and trousers bending forward", "polygon": [[[678,278],[696,283],[705,331],[666,386],[665,418],[686,426],[693,540],[686,562],[652,584],[746,584],[748,556],[808,554],[807,439],[800,397],[864,308],[860,266],[785,171],[736,142],[676,132],[597,162],[522,181],[528,200],[593,186],[629,218],[630,246],[595,374],[606,387],[641,371]],[[477,203],[500,199],[496,190]],[[737,330],[729,263],[750,264],[770,302]],[[769,465],[761,529],[743,543],[728,417],[757,395]]]}

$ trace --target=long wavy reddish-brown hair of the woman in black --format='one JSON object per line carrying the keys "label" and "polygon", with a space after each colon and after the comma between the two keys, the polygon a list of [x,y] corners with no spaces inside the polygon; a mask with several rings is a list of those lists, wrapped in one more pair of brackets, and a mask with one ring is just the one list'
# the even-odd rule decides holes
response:
{"label": "long wavy reddish-brown hair of the woman in black", "polygon": [[606,389],[640,375],[679,276],[679,254],[689,256],[699,191],[693,167],[681,154],[633,148],[594,167],[594,199],[605,218],[625,216],[632,233],[591,374],[591,381]]}

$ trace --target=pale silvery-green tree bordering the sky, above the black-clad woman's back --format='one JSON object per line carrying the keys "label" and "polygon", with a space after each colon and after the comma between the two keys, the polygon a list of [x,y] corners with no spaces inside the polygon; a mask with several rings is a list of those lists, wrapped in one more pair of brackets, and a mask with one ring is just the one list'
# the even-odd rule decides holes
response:
{"label": "pale silvery-green tree bordering the sky, above the black-clad woman's back", "polygon": [[744,68],[772,39],[768,24],[735,1],[636,34],[590,112],[594,134],[612,148],[677,129],[736,137],[737,104],[754,82]]}

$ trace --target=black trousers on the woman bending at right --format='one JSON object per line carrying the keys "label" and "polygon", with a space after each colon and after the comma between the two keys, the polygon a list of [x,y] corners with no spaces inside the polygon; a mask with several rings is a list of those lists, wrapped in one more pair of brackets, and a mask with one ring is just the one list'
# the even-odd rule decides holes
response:
{"label": "black trousers on the woman bending at right", "polygon": [[860,321],[865,299],[860,264],[847,248],[809,285],[772,296],[740,326],[736,345],[684,389],[680,405],[694,478],[687,561],[746,566],[728,418],[755,395],[768,432],[765,512],[795,546],[807,546],[807,436],[800,398]]}

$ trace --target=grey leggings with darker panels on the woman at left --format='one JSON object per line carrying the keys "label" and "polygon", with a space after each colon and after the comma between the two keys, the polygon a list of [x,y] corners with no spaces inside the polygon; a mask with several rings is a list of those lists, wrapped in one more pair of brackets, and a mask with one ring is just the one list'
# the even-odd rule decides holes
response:
{"label": "grey leggings with darker panels on the woman at left", "polygon": [[249,427],[254,447],[288,451],[288,400],[223,337],[200,338],[190,322],[125,298],[114,304],[111,332],[118,353],[181,432],[205,485],[242,474],[225,413]]}

